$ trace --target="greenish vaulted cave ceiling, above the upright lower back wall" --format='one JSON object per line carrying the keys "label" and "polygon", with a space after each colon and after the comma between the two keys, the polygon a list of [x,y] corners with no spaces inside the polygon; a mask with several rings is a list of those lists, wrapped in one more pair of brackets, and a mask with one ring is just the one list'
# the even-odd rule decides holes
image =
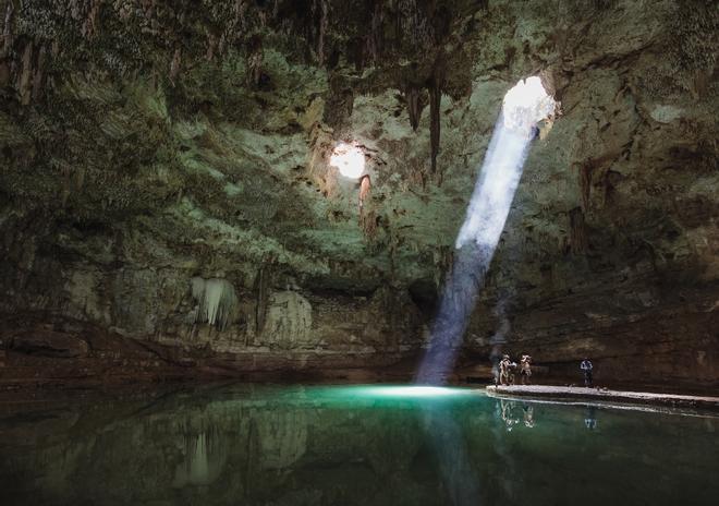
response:
{"label": "greenish vaulted cave ceiling, above the upright lower back wall", "polygon": [[[502,97],[531,75],[561,112],[533,144],[483,297],[532,305],[631,278],[641,306],[661,284],[716,286],[712,2],[0,5],[17,293],[68,265],[247,289],[270,268],[277,287],[430,301]],[[366,154],[362,214],[360,183],[329,166],[339,142]]]}

